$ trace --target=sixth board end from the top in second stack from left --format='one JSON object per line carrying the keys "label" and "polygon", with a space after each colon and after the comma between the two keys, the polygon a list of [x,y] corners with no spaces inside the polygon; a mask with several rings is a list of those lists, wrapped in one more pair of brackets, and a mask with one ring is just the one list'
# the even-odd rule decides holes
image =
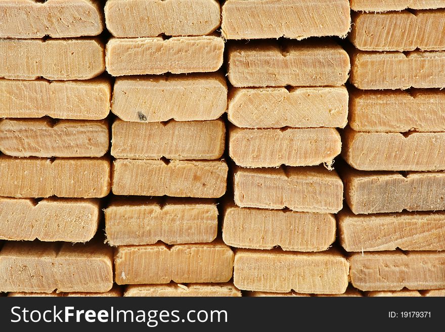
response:
{"label": "sixth board end from the top in second stack from left", "polygon": [[110,246],[212,242],[217,231],[215,201],[120,199],[105,209]]}

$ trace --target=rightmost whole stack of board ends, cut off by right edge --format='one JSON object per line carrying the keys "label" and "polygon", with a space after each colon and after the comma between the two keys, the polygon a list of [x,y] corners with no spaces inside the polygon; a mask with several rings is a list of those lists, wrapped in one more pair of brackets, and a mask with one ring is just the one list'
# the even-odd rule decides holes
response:
{"label": "rightmost whole stack of board ends, cut off by right edge", "polygon": [[351,282],[370,296],[445,288],[443,7],[351,1],[355,88],[341,172],[349,209],[338,226]]}

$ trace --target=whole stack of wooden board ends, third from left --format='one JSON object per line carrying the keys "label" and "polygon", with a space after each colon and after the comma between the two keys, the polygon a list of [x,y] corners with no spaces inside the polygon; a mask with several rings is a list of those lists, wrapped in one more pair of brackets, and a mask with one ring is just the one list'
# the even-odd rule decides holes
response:
{"label": "whole stack of wooden board ends, third from left", "polygon": [[295,39],[344,36],[349,26],[346,0],[222,6],[227,39],[292,38],[228,41],[234,200],[222,237],[237,248],[234,284],[248,295],[348,286],[349,263],[329,248],[343,200],[331,165],[341,151],[336,127],[347,122],[349,58],[331,39]]}

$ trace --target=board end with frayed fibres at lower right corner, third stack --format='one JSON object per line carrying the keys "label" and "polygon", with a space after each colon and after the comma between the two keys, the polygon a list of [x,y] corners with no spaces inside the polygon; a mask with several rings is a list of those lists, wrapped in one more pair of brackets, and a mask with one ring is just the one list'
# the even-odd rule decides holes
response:
{"label": "board end with frayed fibres at lower right corner, third stack", "polygon": [[331,165],[340,152],[335,128],[229,127],[229,155],[242,167]]}

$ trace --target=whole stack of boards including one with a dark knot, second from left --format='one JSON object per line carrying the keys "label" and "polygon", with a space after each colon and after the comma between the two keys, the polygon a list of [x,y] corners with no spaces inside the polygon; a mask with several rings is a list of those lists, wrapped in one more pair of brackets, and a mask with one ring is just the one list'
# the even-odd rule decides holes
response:
{"label": "whole stack of boards including one with a dark knot, second from left", "polygon": [[105,18],[115,281],[126,296],[241,296],[228,283],[234,254],[217,239],[228,173],[219,3],[109,0]]}

